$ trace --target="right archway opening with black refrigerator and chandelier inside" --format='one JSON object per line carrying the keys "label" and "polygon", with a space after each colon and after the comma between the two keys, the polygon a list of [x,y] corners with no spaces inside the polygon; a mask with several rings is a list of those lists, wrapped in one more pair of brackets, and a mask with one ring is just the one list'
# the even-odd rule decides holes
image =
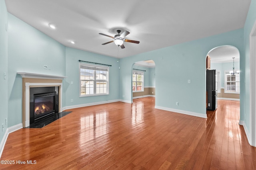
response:
{"label": "right archway opening with black refrigerator and chandelier inside", "polygon": [[[217,99],[240,101],[239,70],[240,53],[236,47],[223,45],[208,52],[206,56],[206,109],[217,109]],[[208,74],[209,72],[212,73]]]}

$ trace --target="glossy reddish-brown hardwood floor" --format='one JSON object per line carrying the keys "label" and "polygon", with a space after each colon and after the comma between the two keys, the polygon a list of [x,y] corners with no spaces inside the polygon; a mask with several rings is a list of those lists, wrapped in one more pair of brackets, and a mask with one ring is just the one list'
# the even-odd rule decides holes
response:
{"label": "glossy reddish-brown hardwood floor", "polygon": [[256,148],[238,125],[239,102],[219,100],[207,119],[154,103],[148,97],[70,109],[41,129],[10,133],[1,160],[15,164],[0,169],[256,169]]}

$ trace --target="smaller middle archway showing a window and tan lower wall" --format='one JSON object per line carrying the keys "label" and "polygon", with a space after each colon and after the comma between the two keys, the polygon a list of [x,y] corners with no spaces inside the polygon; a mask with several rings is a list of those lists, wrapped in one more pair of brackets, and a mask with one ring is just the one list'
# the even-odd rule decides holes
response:
{"label": "smaller middle archway showing a window and tan lower wall", "polygon": [[153,60],[132,65],[132,100],[156,95],[156,64]]}

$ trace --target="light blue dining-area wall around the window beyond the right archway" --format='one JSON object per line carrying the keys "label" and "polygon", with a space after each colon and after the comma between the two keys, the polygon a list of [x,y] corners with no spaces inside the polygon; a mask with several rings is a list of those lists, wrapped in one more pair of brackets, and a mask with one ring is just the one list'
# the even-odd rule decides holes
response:
{"label": "light blue dining-area wall around the window beyond the right archway", "polygon": [[[240,69],[240,62],[234,62],[235,70]],[[211,70],[220,71],[220,87],[224,88],[225,71],[232,70],[233,62],[228,63],[211,63]]]}

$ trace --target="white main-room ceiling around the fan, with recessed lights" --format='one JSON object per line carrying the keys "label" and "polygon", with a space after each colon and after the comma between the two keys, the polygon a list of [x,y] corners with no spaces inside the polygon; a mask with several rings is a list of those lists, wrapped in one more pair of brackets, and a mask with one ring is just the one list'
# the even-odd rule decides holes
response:
{"label": "white main-room ceiling around the fan, with recessed lights", "polygon": [[[244,27],[251,0],[5,0],[7,10],[67,47],[128,57]],[[48,24],[56,25],[51,29]],[[118,49],[113,30],[130,31]],[[71,44],[74,41],[75,44]],[[119,47],[120,48],[120,47]]]}

